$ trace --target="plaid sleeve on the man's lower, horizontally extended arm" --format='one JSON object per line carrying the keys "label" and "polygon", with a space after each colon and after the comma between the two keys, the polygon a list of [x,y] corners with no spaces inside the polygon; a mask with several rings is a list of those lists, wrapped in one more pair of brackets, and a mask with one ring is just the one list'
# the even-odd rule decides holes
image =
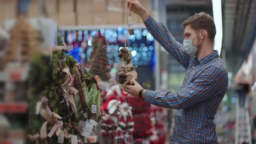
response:
{"label": "plaid sleeve on the man's lower, horizontally extended arm", "polygon": [[147,102],[166,108],[185,109],[223,92],[226,77],[218,68],[206,68],[193,82],[180,92],[146,91]]}

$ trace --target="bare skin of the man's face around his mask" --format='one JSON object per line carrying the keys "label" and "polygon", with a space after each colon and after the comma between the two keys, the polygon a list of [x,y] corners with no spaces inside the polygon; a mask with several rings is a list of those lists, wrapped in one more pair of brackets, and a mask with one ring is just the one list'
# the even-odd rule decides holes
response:
{"label": "bare skin of the man's face around his mask", "polygon": [[[185,27],[185,30],[184,30],[184,37],[185,37],[185,40],[191,40],[193,39],[195,36],[196,36],[196,31],[194,29],[191,28],[190,25],[187,25]],[[193,46],[196,46],[198,45],[198,43],[200,42],[200,40],[198,39],[199,36],[195,37],[192,41],[192,45]]]}

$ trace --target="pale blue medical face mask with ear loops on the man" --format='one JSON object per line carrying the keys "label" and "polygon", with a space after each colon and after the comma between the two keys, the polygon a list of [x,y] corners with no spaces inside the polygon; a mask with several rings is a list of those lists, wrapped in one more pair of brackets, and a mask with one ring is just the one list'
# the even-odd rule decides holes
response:
{"label": "pale blue medical face mask with ear loops on the man", "polygon": [[[201,33],[201,31],[199,32]],[[198,33],[198,34],[199,34]],[[196,34],[196,36],[198,36],[198,34]],[[195,36],[195,37],[196,37]],[[195,39],[195,37],[193,37],[193,39]],[[192,55],[192,56],[195,56],[196,55],[196,51],[197,51],[197,47],[200,45],[200,43],[202,42],[202,40],[198,43],[197,46],[193,46],[192,45],[192,42],[193,42],[193,39],[190,39],[190,40],[183,40],[183,49],[189,54],[189,55]]]}

